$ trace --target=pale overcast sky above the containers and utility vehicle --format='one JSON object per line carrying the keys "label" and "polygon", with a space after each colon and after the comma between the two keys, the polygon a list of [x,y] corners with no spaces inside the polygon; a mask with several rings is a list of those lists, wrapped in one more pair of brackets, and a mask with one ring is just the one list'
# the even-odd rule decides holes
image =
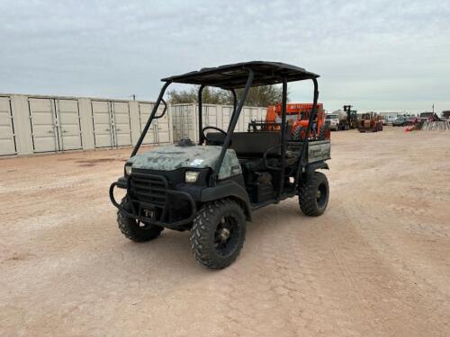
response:
{"label": "pale overcast sky above the containers and utility vehicle", "polygon": [[166,75],[274,60],[320,74],[327,110],[450,110],[449,0],[3,0],[0,43],[0,93],[155,100]]}

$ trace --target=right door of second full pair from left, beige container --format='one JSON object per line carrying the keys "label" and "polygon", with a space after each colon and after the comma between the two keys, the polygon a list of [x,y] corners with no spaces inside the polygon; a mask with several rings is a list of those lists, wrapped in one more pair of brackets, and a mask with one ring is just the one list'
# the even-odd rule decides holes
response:
{"label": "right door of second full pair from left, beige container", "polygon": [[112,102],[112,129],[115,146],[131,145],[130,105],[128,102]]}

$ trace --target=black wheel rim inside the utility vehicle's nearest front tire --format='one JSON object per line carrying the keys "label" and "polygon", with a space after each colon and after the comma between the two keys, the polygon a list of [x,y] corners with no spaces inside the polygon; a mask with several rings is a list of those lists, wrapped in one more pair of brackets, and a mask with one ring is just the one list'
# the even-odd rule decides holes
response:
{"label": "black wheel rim inside the utility vehicle's nearest front tire", "polygon": [[216,252],[226,257],[234,253],[238,247],[240,226],[238,220],[232,216],[222,217],[214,233],[214,248]]}

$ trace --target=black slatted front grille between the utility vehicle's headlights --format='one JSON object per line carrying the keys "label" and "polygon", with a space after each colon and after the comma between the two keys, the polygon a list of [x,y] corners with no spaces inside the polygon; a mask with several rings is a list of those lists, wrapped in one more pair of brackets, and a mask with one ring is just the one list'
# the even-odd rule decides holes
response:
{"label": "black slatted front grille between the utility vehicle's headlights", "polygon": [[167,198],[166,178],[154,174],[132,173],[130,175],[130,192],[133,200],[164,207]]}

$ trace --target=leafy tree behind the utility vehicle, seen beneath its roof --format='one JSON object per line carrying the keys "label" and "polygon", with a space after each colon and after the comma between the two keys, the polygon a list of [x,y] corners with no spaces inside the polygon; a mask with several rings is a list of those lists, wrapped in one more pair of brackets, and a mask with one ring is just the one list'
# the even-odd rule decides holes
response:
{"label": "leafy tree behind the utility vehicle, seen beneath its roof", "polygon": [[[167,93],[168,102],[172,104],[196,103],[198,101],[199,86],[194,86],[189,90],[172,90]],[[242,97],[244,89],[236,91],[238,100]],[[289,93],[288,93],[289,94]],[[221,90],[206,86],[202,93],[203,103],[209,104],[233,104],[233,94],[229,90]],[[264,85],[250,88],[247,94],[245,105],[266,107],[282,101],[282,88],[279,85]]]}

